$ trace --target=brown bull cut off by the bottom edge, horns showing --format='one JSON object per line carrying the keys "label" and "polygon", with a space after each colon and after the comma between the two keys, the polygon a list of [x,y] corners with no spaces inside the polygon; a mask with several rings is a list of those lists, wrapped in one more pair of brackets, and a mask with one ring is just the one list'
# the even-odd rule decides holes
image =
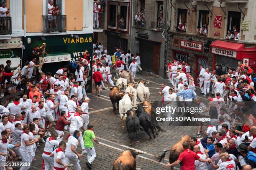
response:
{"label": "brown bull cut off by the bottom edge, horns showing", "polygon": [[136,155],[139,153],[131,149],[124,150],[113,163],[112,170],[136,170]]}

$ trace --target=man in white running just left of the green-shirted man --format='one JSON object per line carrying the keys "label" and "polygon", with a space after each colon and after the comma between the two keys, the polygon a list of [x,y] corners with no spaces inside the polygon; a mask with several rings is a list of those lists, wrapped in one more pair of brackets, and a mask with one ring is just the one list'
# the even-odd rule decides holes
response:
{"label": "man in white running just left of the green-shirted man", "polygon": [[[70,127],[69,127],[69,133],[70,135],[74,134],[75,130],[80,130],[85,131],[83,125],[84,125],[84,120],[82,119],[81,115],[83,113],[83,110],[81,107],[77,108],[77,112],[75,112],[73,115],[71,115],[67,120],[71,120]],[[82,150],[84,150],[84,139],[82,137],[82,134],[80,133],[80,136],[78,138],[80,141]]]}

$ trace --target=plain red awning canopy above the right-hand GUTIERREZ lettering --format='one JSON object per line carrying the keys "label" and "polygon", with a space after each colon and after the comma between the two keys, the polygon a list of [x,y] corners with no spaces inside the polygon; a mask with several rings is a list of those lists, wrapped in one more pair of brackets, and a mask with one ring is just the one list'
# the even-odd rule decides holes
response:
{"label": "plain red awning canopy above the right-hand GUTIERREZ lettering", "polygon": [[225,49],[225,50],[232,50],[232,51],[241,51],[245,49],[244,44],[240,44],[236,42],[220,41],[220,40],[215,40],[214,42],[212,42],[210,46]]}

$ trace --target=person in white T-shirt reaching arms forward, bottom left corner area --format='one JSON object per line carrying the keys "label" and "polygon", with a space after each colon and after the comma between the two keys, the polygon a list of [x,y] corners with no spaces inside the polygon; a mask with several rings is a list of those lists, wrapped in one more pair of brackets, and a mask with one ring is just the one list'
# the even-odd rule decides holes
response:
{"label": "person in white T-shirt reaching arms forward, bottom left corner area", "polygon": [[33,140],[33,137],[31,138],[30,135],[28,134],[29,130],[30,130],[29,125],[26,125],[24,127],[24,131],[20,137],[20,157],[22,159],[22,163],[24,164],[23,166],[21,166],[20,170],[28,170],[29,169],[29,167],[31,165],[31,161],[32,161],[31,156],[28,154],[29,146],[33,145],[34,143],[37,143],[40,138],[38,136],[38,138]]}

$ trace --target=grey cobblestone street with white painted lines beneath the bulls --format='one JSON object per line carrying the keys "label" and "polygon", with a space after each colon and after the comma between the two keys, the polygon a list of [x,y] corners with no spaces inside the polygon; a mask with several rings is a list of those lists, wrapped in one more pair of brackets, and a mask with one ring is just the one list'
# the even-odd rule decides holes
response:
{"label": "grey cobblestone street with white painted lines beneath the bulls", "polygon": [[[135,81],[150,80],[150,83],[146,85],[151,92],[150,100],[161,100],[157,92],[161,90],[161,82],[165,81],[167,83],[167,80],[163,80],[150,73],[142,73],[137,76],[139,78],[136,78]],[[95,144],[97,157],[92,163],[92,169],[110,170],[115,159],[119,157],[121,150],[125,150],[130,146],[128,133],[126,132],[126,128],[121,128],[119,113],[116,115],[113,114],[112,104],[109,100],[109,90],[103,90],[100,97],[95,95],[95,93],[88,94],[88,97],[91,98],[90,108],[95,109],[90,112],[90,122],[95,125],[94,132],[97,140],[100,142],[100,144]],[[133,143],[133,148],[146,152],[136,157],[137,170],[164,170],[164,163],[167,163],[169,153],[166,153],[164,163],[158,163],[154,155],[161,155],[164,149],[168,150],[183,135],[195,135],[197,132],[197,126],[168,126],[167,122],[162,122],[160,125],[166,132],[159,132],[159,135],[156,135],[155,139],[149,140],[148,135],[144,131],[141,131],[139,137],[140,143]],[[65,137],[67,134],[68,132],[65,132]],[[42,143],[40,148],[36,150],[37,160],[32,163],[31,170],[41,169],[41,153],[43,153],[43,149],[44,144]],[[80,146],[77,149],[81,152]],[[82,159],[80,159],[82,169],[88,169],[85,164],[87,162],[86,155],[84,154]],[[68,169],[75,170],[76,168],[73,166]],[[179,167],[176,169],[179,169]]]}

